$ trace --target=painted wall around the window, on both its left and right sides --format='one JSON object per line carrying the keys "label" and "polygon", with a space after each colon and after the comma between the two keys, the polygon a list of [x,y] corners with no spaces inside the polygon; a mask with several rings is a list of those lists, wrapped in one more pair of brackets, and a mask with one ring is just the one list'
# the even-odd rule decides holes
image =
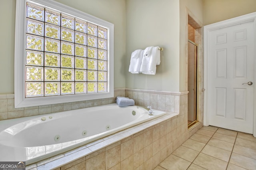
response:
{"label": "painted wall around the window, on both its left and right sides", "polygon": [[[56,0],[114,24],[114,88],[125,87],[125,0]],[[1,0],[0,94],[14,93],[16,0]]]}

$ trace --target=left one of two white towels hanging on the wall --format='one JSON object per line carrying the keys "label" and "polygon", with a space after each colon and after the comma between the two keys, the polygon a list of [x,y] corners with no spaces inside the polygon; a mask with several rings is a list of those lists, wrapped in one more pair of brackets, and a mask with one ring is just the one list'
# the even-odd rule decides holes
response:
{"label": "left one of two white towels hanging on the wall", "polygon": [[130,73],[140,73],[143,51],[143,49],[137,49],[132,52],[129,66]]}

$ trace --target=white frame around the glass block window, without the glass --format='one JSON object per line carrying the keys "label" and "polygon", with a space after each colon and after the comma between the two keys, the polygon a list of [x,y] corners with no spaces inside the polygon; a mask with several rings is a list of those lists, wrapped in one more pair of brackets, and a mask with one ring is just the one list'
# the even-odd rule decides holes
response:
{"label": "white frame around the glass block window, without the glass", "polygon": [[[26,63],[26,2],[38,3],[60,10],[64,13],[83,18],[90,23],[104,26],[108,30],[107,45],[107,92],[85,93],[74,95],[58,95],[47,97],[25,97],[25,63]],[[15,49],[14,49],[14,107],[31,107],[39,105],[86,101],[114,97],[114,24],[76,10],[53,0],[17,0],[15,21]]]}

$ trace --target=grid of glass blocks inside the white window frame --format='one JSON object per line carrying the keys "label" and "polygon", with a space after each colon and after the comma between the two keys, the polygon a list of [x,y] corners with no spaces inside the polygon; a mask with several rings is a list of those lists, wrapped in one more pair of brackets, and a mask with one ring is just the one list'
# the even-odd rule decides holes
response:
{"label": "grid of glass blocks inside the white window frame", "polygon": [[25,98],[108,91],[108,28],[26,2]]}

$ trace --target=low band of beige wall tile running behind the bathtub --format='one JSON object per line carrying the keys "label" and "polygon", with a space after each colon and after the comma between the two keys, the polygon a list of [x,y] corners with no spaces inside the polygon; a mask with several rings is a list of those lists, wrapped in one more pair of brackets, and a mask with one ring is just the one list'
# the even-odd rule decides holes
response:
{"label": "low band of beige wall tile running behind the bathtub", "polygon": [[[116,96],[125,96],[134,99],[136,105],[144,107],[150,105],[152,106],[152,109],[180,113],[180,109],[185,109],[184,105],[188,103],[186,95],[187,92],[164,93],[136,89],[115,89],[113,98],[14,108],[14,94],[2,94],[0,95],[0,120],[106,105],[115,103]],[[186,111],[181,110],[181,112]]]}

